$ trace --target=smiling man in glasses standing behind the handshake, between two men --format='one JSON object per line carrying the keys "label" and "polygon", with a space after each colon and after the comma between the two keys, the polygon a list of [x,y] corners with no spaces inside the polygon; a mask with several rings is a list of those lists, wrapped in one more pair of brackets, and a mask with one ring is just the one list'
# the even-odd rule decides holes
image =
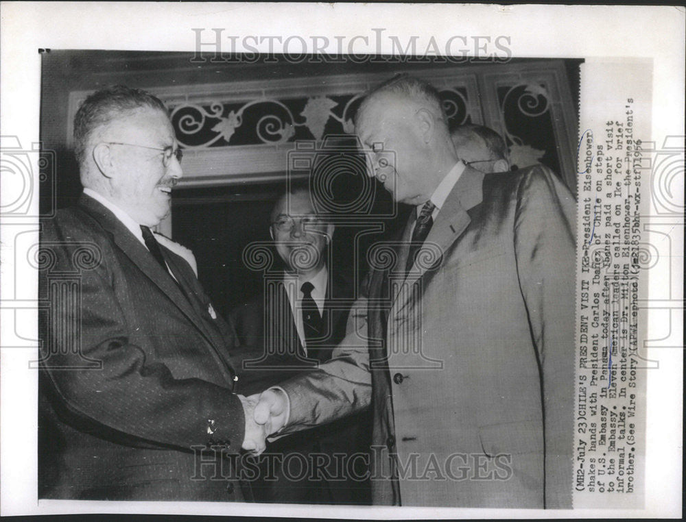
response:
{"label": "smiling man in glasses standing behind the handshake, between two men", "polygon": [[[353,284],[331,266],[334,225],[316,212],[314,197],[306,187],[298,187],[276,201],[270,235],[285,270],[266,284],[263,295],[231,314],[241,343],[263,347],[246,353],[251,360],[245,361],[244,377],[251,389],[263,390],[326,362],[346,333]],[[369,432],[368,412],[360,412],[275,440],[252,482],[255,500],[369,504]],[[294,471],[289,472],[288,462],[296,454],[300,464],[291,464]],[[300,469],[303,463],[307,469]]]}

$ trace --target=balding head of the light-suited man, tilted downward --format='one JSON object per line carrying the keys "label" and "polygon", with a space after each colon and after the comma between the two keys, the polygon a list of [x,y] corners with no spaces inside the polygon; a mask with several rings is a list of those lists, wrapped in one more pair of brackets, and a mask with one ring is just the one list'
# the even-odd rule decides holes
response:
{"label": "balding head of the light-suited man, tilted downward", "polygon": [[401,203],[427,201],[457,161],[438,92],[407,75],[367,95],[355,114],[355,134],[370,151],[369,175]]}

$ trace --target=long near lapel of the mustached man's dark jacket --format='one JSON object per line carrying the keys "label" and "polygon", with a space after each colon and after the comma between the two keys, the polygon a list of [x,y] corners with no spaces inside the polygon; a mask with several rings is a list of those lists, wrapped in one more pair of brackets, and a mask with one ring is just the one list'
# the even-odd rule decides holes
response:
{"label": "long near lapel of the mustached man's dark jacket", "polygon": [[[206,325],[203,324],[198,312],[193,309],[189,299],[184,295],[182,290],[174,282],[169,273],[160,266],[155,260],[150,251],[148,251],[143,244],[126,228],[123,223],[115,217],[112,212],[102,206],[95,199],[82,195],[79,201],[80,207],[95,218],[104,229],[106,229],[113,236],[113,240],[117,247],[128,256],[131,262],[138,267],[162,292],[169,298],[171,304],[176,306],[193,325],[195,325],[202,334],[215,345],[216,340],[213,339]],[[165,256],[167,260],[170,256]],[[173,262],[172,262],[173,264]],[[178,273],[180,271],[175,272]],[[188,287],[187,287],[188,288]]]}

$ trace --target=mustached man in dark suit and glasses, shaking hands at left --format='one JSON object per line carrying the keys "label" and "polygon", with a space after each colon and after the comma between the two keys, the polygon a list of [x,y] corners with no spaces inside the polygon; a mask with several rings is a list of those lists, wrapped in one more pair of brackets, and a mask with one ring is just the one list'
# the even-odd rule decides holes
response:
{"label": "mustached man in dark suit and glasses, shaking hands at left", "polygon": [[236,393],[235,336],[150,230],[182,176],[167,110],[101,90],[74,139],[84,193],[41,236],[38,497],[244,499],[233,457],[262,430]]}

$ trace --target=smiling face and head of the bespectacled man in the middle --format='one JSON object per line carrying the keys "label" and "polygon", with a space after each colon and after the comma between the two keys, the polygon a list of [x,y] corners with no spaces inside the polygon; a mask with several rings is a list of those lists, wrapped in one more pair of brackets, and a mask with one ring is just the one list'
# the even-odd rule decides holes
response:
{"label": "smiling face and head of the bespectacled man in the middle", "polygon": [[281,195],[270,216],[270,235],[287,269],[298,275],[317,273],[333,236],[333,223],[318,215],[307,188]]}

